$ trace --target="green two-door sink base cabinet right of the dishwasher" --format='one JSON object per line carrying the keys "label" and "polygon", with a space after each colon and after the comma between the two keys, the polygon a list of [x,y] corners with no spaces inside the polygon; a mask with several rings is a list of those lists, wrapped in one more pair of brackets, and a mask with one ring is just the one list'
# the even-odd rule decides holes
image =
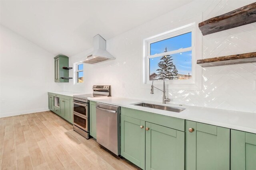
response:
{"label": "green two-door sink base cabinet right of the dishwasher", "polygon": [[184,126],[183,119],[122,107],[121,156],[146,170],[184,170],[185,133],[175,129]]}

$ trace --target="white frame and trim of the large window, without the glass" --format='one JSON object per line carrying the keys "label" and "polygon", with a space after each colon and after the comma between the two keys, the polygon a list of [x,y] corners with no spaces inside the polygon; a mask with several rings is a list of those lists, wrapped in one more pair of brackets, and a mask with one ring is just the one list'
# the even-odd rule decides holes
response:
{"label": "white frame and trim of the large window, without the glass", "polygon": [[[197,21],[195,21],[197,20]],[[192,51],[192,78],[190,80],[166,80],[167,89],[178,89],[178,90],[202,90],[202,67],[196,64],[198,59],[202,59],[202,33],[198,29],[197,23],[202,19],[200,16],[197,18],[192,18],[188,21],[178,23],[176,27],[165,31],[163,33],[158,33],[153,36],[148,36],[142,39],[142,57],[141,57],[141,88],[149,89],[151,88],[152,80],[150,80],[150,67],[149,59],[154,57],[161,57],[163,55],[172,55],[176,53],[182,53],[186,51]],[[186,23],[186,24],[185,24]],[[192,32],[192,46],[184,49],[178,49],[175,51],[167,51],[166,53],[160,53],[150,56],[150,44],[184,33]],[[154,81],[154,85],[162,88],[162,81]]]}

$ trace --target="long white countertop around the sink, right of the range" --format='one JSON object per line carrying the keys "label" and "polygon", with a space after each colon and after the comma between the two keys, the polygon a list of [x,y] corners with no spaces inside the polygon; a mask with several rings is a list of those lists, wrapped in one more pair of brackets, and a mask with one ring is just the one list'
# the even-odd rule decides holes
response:
{"label": "long white countertop around the sink, right of the range", "polygon": [[[220,127],[226,127],[230,129],[236,129],[240,131],[246,131],[250,133],[256,133],[256,113],[248,113],[241,111],[231,111],[223,109],[213,109],[207,107],[197,106],[179,106],[178,104],[162,104],[161,102],[152,102],[146,100],[120,98],[120,97],[105,97],[105,98],[92,98],[91,101],[102,102],[105,104],[112,104],[121,107],[127,107],[131,109],[137,109],[142,111],[148,111],[151,113],[167,115],[171,117],[177,117],[181,119],[197,121],[210,125],[216,125]],[[132,104],[145,102],[150,104],[158,104],[163,106],[172,106],[185,108],[180,113],[165,111],[160,109],[153,109],[148,107],[134,106]]]}

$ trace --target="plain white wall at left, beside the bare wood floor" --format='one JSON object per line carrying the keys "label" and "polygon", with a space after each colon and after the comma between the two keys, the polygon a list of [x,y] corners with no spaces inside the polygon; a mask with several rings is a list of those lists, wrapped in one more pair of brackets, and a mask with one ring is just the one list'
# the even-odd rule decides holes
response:
{"label": "plain white wall at left, beside the bare wood floor", "polygon": [[48,110],[54,83],[54,55],[1,25],[0,117]]}

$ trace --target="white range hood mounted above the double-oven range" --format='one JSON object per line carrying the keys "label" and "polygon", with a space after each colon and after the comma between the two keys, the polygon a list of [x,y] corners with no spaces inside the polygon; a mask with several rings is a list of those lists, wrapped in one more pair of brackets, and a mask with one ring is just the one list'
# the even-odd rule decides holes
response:
{"label": "white range hood mounted above the double-oven range", "polygon": [[103,61],[109,61],[116,59],[108,51],[106,51],[106,40],[103,39],[99,34],[93,37],[93,48],[94,50],[88,54],[84,63],[96,64]]}

